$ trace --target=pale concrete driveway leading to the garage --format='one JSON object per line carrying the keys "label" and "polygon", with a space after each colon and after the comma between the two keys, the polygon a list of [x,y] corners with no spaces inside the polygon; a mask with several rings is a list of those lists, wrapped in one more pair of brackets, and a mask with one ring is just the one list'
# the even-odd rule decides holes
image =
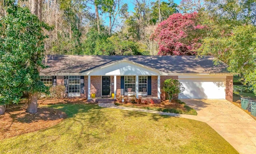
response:
{"label": "pale concrete driveway leading to the garage", "polygon": [[[256,120],[225,99],[182,99],[241,154],[256,154]],[[198,119],[199,120],[199,119]]]}

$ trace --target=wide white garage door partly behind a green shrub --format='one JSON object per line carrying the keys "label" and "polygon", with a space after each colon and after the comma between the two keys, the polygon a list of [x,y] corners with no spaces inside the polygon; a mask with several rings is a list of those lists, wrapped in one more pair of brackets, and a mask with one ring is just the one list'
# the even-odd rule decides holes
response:
{"label": "wide white garage door partly behind a green shrub", "polygon": [[180,99],[225,99],[225,79],[179,79],[185,91]]}

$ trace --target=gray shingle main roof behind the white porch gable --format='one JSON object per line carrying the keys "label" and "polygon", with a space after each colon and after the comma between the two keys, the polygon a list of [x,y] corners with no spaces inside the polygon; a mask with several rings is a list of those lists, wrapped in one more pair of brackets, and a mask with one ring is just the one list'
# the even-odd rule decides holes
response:
{"label": "gray shingle main roof behind the white porch gable", "polygon": [[41,73],[82,73],[127,59],[166,73],[228,73],[227,65],[214,65],[214,57],[204,56],[104,56],[104,55],[48,55],[46,65]]}

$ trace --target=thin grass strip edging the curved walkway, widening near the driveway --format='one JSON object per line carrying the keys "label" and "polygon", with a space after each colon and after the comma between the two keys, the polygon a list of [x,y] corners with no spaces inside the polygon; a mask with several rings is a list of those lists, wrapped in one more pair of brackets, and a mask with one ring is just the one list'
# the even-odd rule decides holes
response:
{"label": "thin grass strip edging the curved walkway, widening near the driveway", "polygon": [[195,109],[192,109],[186,103],[177,100],[178,103],[184,105],[184,108],[186,108],[186,111],[179,110],[179,109],[163,109],[160,107],[139,107],[136,105],[128,105],[128,104],[120,104],[115,102],[116,106],[122,106],[122,107],[131,107],[131,108],[138,108],[138,109],[146,109],[146,110],[152,110],[152,111],[160,111],[160,112],[166,112],[166,113],[179,113],[179,114],[185,114],[185,115],[197,115],[197,112]]}

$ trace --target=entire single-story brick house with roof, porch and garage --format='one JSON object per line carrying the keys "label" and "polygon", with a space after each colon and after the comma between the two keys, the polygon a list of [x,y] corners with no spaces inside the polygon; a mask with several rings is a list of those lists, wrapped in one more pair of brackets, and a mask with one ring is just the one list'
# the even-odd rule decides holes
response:
{"label": "entire single-story brick house with roof, porch and garage", "polygon": [[48,55],[40,72],[45,84],[65,85],[68,97],[135,95],[164,99],[166,79],[178,79],[180,99],[233,99],[233,75],[227,65],[204,56]]}

